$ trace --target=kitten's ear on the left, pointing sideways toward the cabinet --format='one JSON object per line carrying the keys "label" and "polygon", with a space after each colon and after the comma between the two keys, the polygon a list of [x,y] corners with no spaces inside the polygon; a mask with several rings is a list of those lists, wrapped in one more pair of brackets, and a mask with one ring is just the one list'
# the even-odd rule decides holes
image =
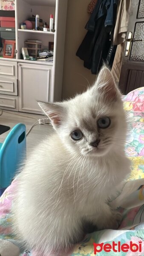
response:
{"label": "kitten's ear on the left, pointing sideways toward the cabinet", "polygon": [[43,112],[49,117],[54,128],[60,126],[63,119],[63,108],[60,105],[37,101]]}

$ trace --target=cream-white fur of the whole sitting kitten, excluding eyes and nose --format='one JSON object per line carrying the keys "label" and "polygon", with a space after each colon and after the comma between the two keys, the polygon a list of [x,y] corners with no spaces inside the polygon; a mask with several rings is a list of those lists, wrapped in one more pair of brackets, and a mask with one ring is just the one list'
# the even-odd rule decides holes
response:
{"label": "cream-white fur of the whole sitting kitten, excluding eyes and nose", "polygon": [[[107,201],[130,173],[130,162],[124,153],[127,125],[121,93],[106,67],[85,93],[39,105],[56,132],[26,160],[13,215],[18,237],[48,255],[81,240],[85,222],[98,229],[118,227],[121,215]],[[104,116],[111,124],[100,129],[97,120]],[[78,128],[84,136],[74,141],[70,134]],[[89,145],[97,139],[98,147]]]}

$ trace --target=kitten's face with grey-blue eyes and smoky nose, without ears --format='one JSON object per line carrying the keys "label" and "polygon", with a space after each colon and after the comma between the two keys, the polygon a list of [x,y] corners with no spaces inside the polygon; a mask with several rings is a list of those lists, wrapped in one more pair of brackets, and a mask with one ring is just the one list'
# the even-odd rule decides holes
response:
{"label": "kitten's face with grey-blue eyes and smoky nose, without ears", "polygon": [[104,102],[92,97],[84,94],[73,100],[59,135],[70,151],[84,156],[103,156],[116,142],[121,143],[122,102]]}

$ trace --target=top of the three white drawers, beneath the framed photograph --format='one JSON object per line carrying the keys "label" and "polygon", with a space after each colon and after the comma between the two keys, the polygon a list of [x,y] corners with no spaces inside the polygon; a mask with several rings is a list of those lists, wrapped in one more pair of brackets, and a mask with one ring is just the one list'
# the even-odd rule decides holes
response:
{"label": "top of the three white drawers, beneath the framed photograph", "polygon": [[17,79],[17,62],[0,61],[0,77],[12,77]]}

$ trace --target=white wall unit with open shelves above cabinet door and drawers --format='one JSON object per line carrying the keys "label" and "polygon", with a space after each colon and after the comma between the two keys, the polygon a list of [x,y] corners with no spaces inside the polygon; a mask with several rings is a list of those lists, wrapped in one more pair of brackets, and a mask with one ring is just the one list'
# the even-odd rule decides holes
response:
{"label": "white wall unit with open shelves above cabinet door and drawers", "polygon": [[[53,14],[55,32],[20,29],[20,23],[28,20],[32,15],[37,14],[43,19],[43,23],[46,22],[48,25],[50,15]],[[29,113],[41,113],[40,108],[36,108],[35,105],[37,99],[43,101],[49,100],[50,102],[61,100],[66,14],[67,0],[15,0],[16,58],[0,58],[0,62],[2,66],[3,61],[9,61],[9,65],[10,62],[14,63],[9,66],[14,66],[14,68],[16,68],[17,63],[17,75],[11,79],[16,79],[17,77],[18,90],[17,93],[13,92],[12,101],[11,95],[3,96],[3,94],[6,94],[7,89],[5,90],[4,88],[3,92],[0,90],[0,108],[9,110],[12,108],[15,111]],[[42,41],[42,49],[48,49],[49,42],[54,42],[53,63],[20,59],[21,48],[24,47],[24,42],[28,39]],[[28,76],[26,76],[26,72]],[[37,79],[34,79],[34,77],[37,77]],[[32,93],[34,90],[35,93]],[[26,97],[26,93],[28,93],[28,97]],[[17,102],[17,104],[14,102]]]}

